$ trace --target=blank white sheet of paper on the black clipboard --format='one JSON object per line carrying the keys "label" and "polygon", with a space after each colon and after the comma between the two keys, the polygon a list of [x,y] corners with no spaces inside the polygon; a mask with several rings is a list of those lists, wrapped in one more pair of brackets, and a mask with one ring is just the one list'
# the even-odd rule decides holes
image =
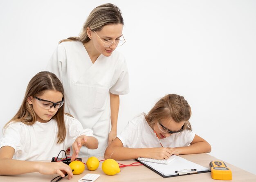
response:
{"label": "blank white sheet of paper on the black clipboard", "polygon": [[147,164],[148,166],[152,167],[159,173],[165,176],[169,175],[177,175],[175,171],[183,171],[183,170],[191,170],[191,169],[196,169],[198,172],[200,171],[209,171],[209,168],[203,167],[199,164],[195,164],[194,162],[191,162],[189,160],[186,160],[182,157],[179,156],[173,156],[175,160],[173,162],[163,165],[163,164],[157,164],[153,162],[146,162],[146,161],[141,161],[142,163]]}

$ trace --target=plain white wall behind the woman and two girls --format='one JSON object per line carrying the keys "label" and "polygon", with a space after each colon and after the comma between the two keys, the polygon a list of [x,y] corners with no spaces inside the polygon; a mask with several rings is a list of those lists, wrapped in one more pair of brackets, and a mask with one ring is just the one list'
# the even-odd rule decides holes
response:
{"label": "plain white wall behind the woman and two girls", "polygon": [[0,0],[0,129],[58,41],[77,36],[90,11],[107,2],[123,12],[127,42],[118,49],[130,73],[118,133],[160,97],[180,94],[210,154],[256,174],[254,0]]}

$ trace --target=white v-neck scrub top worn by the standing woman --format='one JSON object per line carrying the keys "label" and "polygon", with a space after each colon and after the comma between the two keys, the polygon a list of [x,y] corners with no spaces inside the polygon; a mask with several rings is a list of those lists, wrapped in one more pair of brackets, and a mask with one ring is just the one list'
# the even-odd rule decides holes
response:
{"label": "white v-neck scrub top worn by the standing woman", "polygon": [[115,50],[110,57],[92,61],[82,42],[58,44],[47,70],[56,74],[65,91],[65,112],[90,128],[99,140],[96,150],[81,149],[80,156],[103,156],[110,129],[110,94],[129,92],[124,56]]}

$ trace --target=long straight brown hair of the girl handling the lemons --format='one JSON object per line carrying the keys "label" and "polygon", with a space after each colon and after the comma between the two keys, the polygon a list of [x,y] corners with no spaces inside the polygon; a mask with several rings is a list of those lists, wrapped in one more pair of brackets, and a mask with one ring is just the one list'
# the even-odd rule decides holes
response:
{"label": "long straight brown hair of the girl handling the lemons", "polygon": [[[4,128],[11,122],[22,122],[26,125],[33,125],[36,120],[37,116],[33,110],[33,106],[27,102],[27,98],[29,96],[38,96],[43,94],[47,90],[55,90],[61,92],[64,99],[64,89],[61,81],[54,75],[52,72],[42,71],[37,73],[30,81],[27,86],[27,90],[25,92],[24,99],[20,106],[18,112],[13,116],[13,118],[4,125]],[[52,117],[56,120],[58,125],[58,142],[63,143],[66,136],[66,127],[64,121],[64,107],[63,106],[58,109],[56,114]]]}

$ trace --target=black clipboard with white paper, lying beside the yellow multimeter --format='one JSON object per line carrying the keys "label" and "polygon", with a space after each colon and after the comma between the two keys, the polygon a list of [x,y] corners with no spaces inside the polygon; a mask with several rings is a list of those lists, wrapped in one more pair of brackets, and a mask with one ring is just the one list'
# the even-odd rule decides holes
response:
{"label": "black clipboard with white paper, lying beside the yellow multimeter", "polygon": [[203,167],[199,164],[195,164],[194,162],[191,162],[179,156],[174,156],[174,157],[175,157],[175,160],[173,160],[173,162],[167,165],[140,161],[138,159],[135,159],[135,160],[137,160],[141,164],[144,164],[144,166],[148,167],[155,173],[161,175],[163,178],[211,172],[211,170],[207,167]]}

